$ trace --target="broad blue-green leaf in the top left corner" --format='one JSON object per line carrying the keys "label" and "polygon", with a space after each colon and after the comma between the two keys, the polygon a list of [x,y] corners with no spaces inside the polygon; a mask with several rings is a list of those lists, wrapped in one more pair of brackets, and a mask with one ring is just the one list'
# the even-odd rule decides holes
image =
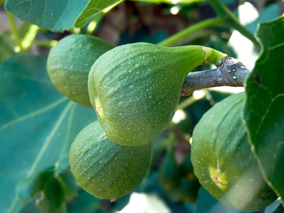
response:
{"label": "broad blue-green leaf in the top left corner", "polygon": [[6,0],[5,8],[19,19],[51,31],[73,27],[88,0]]}

